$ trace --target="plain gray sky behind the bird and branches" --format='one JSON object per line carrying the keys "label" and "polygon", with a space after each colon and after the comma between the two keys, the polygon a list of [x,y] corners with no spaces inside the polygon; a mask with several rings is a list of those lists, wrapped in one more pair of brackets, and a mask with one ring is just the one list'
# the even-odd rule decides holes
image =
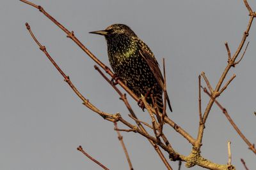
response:
{"label": "plain gray sky behind the bird and branches", "polygon": [[[227,64],[224,43],[228,41],[234,53],[249,18],[242,0],[33,0],[33,3],[42,5],[67,29],[73,30],[106,64],[104,38],[88,32],[114,23],[129,25],[150,46],[159,63],[162,57],[166,58],[173,107],[169,117],[194,137],[198,128],[198,74],[205,71],[212,86],[216,85]],[[249,3],[256,10],[256,2]],[[81,104],[31,39],[25,22],[29,22],[38,40],[86,98],[100,110],[120,112],[127,118],[124,104],[94,70],[94,62],[31,6],[3,1],[0,16],[0,169],[101,169],[77,152],[79,145],[109,169],[128,169],[113,124]],[[244,59],[228,74],[228,78],[234,73],[237,77],[219,98],[252,143],[256,141],[255,28],[253,23]],[[203,94],[202,100],[205,108],[209,97]],[[147,113],[130,101],[140,119],[149,120]],[[164,131],[177,152],[189,154],[191,145],[184,138],[168,126]],[[134,169],[165,169],[145,138],[132,132],[122,134]],[[228,140],[232,141],[232,163],[237,169],[243,169],[241,158],[253,169],[255,155],[214,105],[206,124],[202,155],[226,164]],[[170,164],[177,169],[178,162]]]}

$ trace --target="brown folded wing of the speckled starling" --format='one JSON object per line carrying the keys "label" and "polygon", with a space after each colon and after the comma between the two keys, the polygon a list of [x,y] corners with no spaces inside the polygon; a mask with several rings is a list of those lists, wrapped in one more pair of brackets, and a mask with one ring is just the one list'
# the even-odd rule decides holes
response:
{"label": "brown folded wing of the speckled starling", "polygon": [[[150,70],[152,71],[152,73],[154,74],[157,80],[157,83],[160,85],[161,89],[164,91],[164,78],[159,68],[159,64],[156,58],[154,57],[154,53],[151,52],[150,48],[145,43],[143,43],[143,41],[141,41],[140,39],[138,39],[138,41],[140,45],[141,56],[143,57],[143,59],[146,60],[148,66],[150,67]],[[166,95],[166,99],[167,99],[167,103],[170,108],[170,111],[172,111],[168,94]]]}

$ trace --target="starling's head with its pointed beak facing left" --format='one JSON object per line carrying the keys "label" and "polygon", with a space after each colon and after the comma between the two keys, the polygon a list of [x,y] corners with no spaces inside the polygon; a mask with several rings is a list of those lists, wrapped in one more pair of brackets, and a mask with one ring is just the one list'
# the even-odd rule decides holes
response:
{"label": "starling's head with its pointed beak facing left", "polygon": [[105,30],[92,31],[89,33],[105,36],[106,39],[111,39],[116,36],[136,36],[136,34],[124,24],[113,24],[108,26]]}

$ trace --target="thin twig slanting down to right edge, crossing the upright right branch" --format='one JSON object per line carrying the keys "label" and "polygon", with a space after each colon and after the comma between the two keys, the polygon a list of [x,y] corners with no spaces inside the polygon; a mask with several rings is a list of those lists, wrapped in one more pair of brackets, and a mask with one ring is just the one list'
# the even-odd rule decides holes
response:
{"label": "thin twig slanting down to right edge, crossing the upright right branch", "polygon": [[[211,94],[207,91],[207,89],[205,87],[202,87],[202,89],[204,89],[204,92],[211,97]],[[234,129],[236,130],[237,134],[239,134],[239,136],[241,136],[241,138],[244,140],[244,142],[249,146],[249,149],[252,150],[252,152],[254,152],[256,154],[256,149],[255,149],[255,145],[250,143],[250,141],[248,141],[248,139],[244,136],[244,134],[240,131],[240,129],[237,127],[237,125],[234,123],[234,121],[232,120],[232,118],[228,115],[228,112],[225,108],[223,108],[223,106],[215,99],[214,102],[217,104],[217,106],[222,110],[222,112],[224,113],[224,115],[227,117],[228,121],[230,122],[230,124],[234,127]]]}

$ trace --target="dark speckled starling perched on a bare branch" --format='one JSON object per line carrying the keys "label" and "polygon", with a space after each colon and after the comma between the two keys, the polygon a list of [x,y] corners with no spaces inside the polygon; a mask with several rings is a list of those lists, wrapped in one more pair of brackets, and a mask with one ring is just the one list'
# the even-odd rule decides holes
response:
{"label": "dark speckled starling perched on a bare branch", "polygon": [[[113,24],[105,30],[90,33],[100,34],[106,38],[108,59],[115,76],[120,78],[136,96],[145,96],[151,106],[154,105],[153,96],[158,110],[163,113],[164,79],[150,48],[124,24]],[[166,99],[172,111],[169,97]]]}

